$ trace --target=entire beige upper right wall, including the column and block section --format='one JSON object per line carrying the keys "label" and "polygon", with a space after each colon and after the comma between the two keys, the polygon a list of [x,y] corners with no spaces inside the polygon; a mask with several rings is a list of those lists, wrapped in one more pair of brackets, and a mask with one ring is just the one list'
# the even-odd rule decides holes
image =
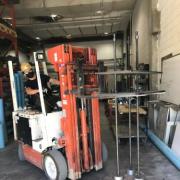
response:
{"label": "entire beige upper right wall, including the column and block section", "polygon": [[[161,12],[160,33],[152,35],[152,12]],[[161,58],[180,53],[180,0],[137,0],[132,18],[131,65],[135,67],[135,31],[139,32],[139,62],[149,63],[151,70],[161,70]],[[152,76],[151,87],[159,87]]]}

